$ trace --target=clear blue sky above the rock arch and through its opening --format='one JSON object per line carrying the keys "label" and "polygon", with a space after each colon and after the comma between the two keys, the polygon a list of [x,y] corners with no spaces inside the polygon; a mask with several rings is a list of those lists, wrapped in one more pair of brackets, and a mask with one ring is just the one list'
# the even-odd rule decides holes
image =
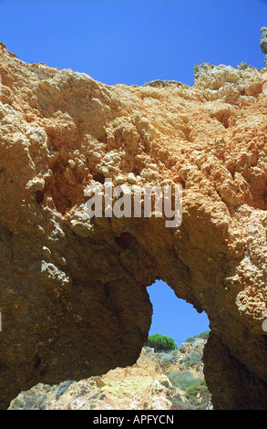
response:
{"label": "clear blue sky above the rock arch and through its opening", "polygon": [[[114,85],[174,79],[195,64],[264,67],[266,0],[0,0],[0,41],[18,58],[72,68]],[[0,58],[1,60],[1,58]],[[178,344],[209,320],[163,282],[148,288],[150,333]]]}

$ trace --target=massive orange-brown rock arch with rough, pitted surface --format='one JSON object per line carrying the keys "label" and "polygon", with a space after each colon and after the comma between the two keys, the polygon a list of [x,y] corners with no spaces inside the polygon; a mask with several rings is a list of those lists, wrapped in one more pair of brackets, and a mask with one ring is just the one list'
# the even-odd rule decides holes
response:
{"label": "massive orange-brown rock arch with rough, pitted surface", "polygon": [[[266,69],[128,87],[0,56],[2,408],[134,364],[157,278],[210,319],[214,409],[266,408]],[[182,224],[89,219],[85,188],[105,178],[180,183]]]}

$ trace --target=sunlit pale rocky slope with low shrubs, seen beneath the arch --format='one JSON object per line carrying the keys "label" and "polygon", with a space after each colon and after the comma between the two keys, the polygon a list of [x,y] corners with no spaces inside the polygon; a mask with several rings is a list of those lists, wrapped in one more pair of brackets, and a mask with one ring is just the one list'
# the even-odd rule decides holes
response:
{"label": "sunlit pale rocky slope with low shrubs, seen beneath the arch", "polygon": [[177,351],[144,347],[133,366],[79,382],[39,383],[21,392],[9,410],[195,410],[211,409],[201,361],[206,338]]}

